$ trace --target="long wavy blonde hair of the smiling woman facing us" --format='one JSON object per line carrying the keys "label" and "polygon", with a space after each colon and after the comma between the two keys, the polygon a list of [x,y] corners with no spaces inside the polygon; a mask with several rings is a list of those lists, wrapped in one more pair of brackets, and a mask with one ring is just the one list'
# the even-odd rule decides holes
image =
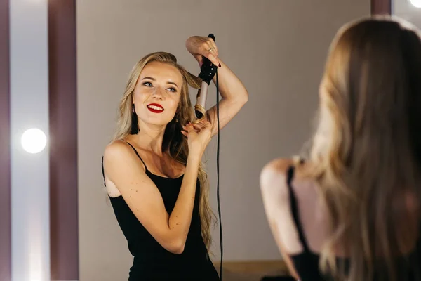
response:
{"label": "long wavy blonde hair of the smiling woman facing us", "polygon": [[[121,140],[126,138],[131,133],[132,124],[132,104],[133,104],[133,91],[135,85],[139,79],[140,73],[142,72],[145,65],[152,62],[167,63],[173,65],[182,74],[182,87],[180,91],[180,103],[178,104],[176,117],[167,124],[162,143],[162,151],[168,152],[169,155],[175,159],[175,161],[182,164],[187,164],[187,155],[189,148],[187,145],[187,139],[182,136],[180,131],[182,126],[194,122],[196,116],[194,115],[192,102],[189,98],[189,86],[194,89],[201,87],[201,79],[187,72],[184,67],[177,63],[177,59],[171,53],[166,52],[155,52],[145,55],[144,58],[135,64],[131,73],[128,77],[126,84],[126,90],[124,91],[123,97],[119,103],[119,115],[117,119],[117,129],[112,141]],[[175,122],[175,119],[178,122]],[[213,221],[215,215],[209,204],[209,183],[208,176],[203,163],[199,165],[198,172],[200,182],[200,198],[199,198],[199,216],[201,219],[201,235],[206,247],[209,249],[212,242],[210,237],[210,223]]]}

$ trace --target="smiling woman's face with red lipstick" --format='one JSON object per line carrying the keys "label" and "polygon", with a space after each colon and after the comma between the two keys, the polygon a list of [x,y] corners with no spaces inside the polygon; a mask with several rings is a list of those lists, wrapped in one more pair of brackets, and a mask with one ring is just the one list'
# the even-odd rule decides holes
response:
{"label": "smiling woman's face with red lipstick", "polygon": [[167,63],[148,63],[140,73],[133,91],[139,123],[164,126],[177,112],[182,75]]}

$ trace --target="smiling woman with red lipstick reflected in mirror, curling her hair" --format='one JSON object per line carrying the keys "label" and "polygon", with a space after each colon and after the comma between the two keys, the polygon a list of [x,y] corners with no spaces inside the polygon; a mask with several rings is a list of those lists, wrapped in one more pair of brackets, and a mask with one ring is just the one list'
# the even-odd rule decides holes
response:
{"label": "smiling woman with red lipstick reflected in mirror, curling her hair", "polygon": [[[208,37],[190,37],[189,53],[218,66],[220,129],[248,92]],[[215,78],[214,78],[215,81]],[[133,68],[119,106],[116,136],[103,157],[105,186],[133,254],[129,280],[219,280],[208,256],[212,211],[201,157],[218,133],[216,108],[196,120],[188,86],[201,79],[170,53]]]}

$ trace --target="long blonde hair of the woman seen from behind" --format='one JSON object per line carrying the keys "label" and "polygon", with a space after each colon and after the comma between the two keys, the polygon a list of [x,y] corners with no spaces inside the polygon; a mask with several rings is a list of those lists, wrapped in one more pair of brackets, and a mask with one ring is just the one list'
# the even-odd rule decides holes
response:
{"label": "long blonde hair of the woman seen from behind", "polygon": [[[346,280],[404,280],[393,278],[402,270],[394,261],[421,240],[421,39],[415,28],[385,17],[343,27],[330,48],[320,96],[311,157],[331,231],[322,268],[342,275],[334,259],[341,249],[351,262]],[[417,251],[411,264],[421,263]]]}

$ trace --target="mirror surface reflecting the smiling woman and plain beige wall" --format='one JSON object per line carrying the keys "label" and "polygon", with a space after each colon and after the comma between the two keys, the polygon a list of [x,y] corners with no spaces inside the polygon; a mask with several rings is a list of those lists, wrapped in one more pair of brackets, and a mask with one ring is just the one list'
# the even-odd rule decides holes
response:
{"label": "mirror surface reflecting the smiling woman and plain beige wall", "polygon": [[[202,205],[202,210],[201,207],[194,210],[197,204],[175,206],[174,201],[174,206],[166,206],[161,200],[166,195],[154,189],[155,181],[170,186],[168,192],[175,190],[172,187],[181,190],[185,183],[184,189],[192,195],[195,194],[191,189],[196,186],[196,178],[204,175],[199,171],[197,159],[192,160],[194,169],[188,165],[190,153],[183,152],[180,159],[174,161],[175,157],[163,153],[160,147],[174,141],[163,138],[163,125],[170,124],[168,130],[181,131],[181,126],[195,118],[196,88],[202,85],[198,85],[196,79],[201,71],[196,58],[200,58],[199,54],[212,52],[219,60],[211,58],[211,61],[218,66],[221,64],[218,67],[221,127],[231,120],[220,133],[223,280],[260,280],[264,276],[287,275],[265,218],[258,188],[260,170],[277,155],[290,155],[300,149],[300,143],[309,137],[309,119],[316,110],[317,89],[330,41],[344,22],[367,15],[369,2],[327,0],[309,11],[307,1],[302,0],[265,1],[265,5],[258,1],[222,0],[214,1],[212,5],[191,0],[171,4],[161,0],[79,1],[76,18],[80,280],[127,280],[130,272],[135,274],[139,264],[133,261],[131,253],[137,247],[131,241],[138,237],[148,237],[145,240],[150,241],[142,247],[159,248],[171,257],[179,258],[181,251],[201,251],[197,262],[202,260],[201,264],[206,264],[214,276],[215,272],[220,274],[215,125],[211,126],[210,132],[203,126],[202,134],[193,133],[193,138],[181,133],[173,135],[175,141],[185,140],[183,148],[190,145],[189,149],[199,155],[206,147],[202,157],[203,171],[208,175],[208,202],[216,222],[209,225],[210,239],[206,237],[206,231],[202,231],[206,218],[197,219],[197,214],[206,216],[206,205]],[[218,20],[209,24],[203,20],[207,15],[210,18],[218,15]],[[206,39],[210,33],[215,35],[215,46],[205,48],[205,44],[212,43]],[[186,48],[186,40],[194,35],[200,36],[196,38],[199,43],[192,45],[202,46],[202,53],[192,51],[188,41]],[[133,68],[142,58],[158,51],[162,53],[157,56],[165,57],[163,60],[170,63],[155,61],[145,67],[140,63]],[[172,55],[183,68],[171,63]],[[129,79],[133,83],[127,84],[131,73],[135,74]],[[231,82],[225,81],[229,76],[232,76]],[[216,76],[213,78],[215,80]],[[189,84],[190,103],[182,89],[185,83]],[[232,83],[231,86],[228,87],[228,83]],[[222,93],[228,89],[233,96],[224,100]],[[215,105],[215,92],[215,84],[210,82],[206,110]],[[179,106],[182,100],[183,107]],[[123,113],[121,117],[120,112]],[[225,115],[226,112],[229,113]],[[135,128],[140,130],[137,134],[130,133],[133,115],[138,115]],[[215,124],[214,111],[210,118]],[[154,130],[160,130],[158,141],[152,135]],[[206,131],[214,135],[207,146],[203,143],[208,140],[201,139]],[[118,138],[114,137],[116,135]],[[119,138],[127,143],[114,140]],[[197,141],[203,141],[202,145]],[[106,187],[100,170],[102,156]],[[195,169],[199,171],[197,175],[192,172]],[[142,186],[142,196],[138,189],[141,181],[149,186]],[[181,193],[178,197],[175,195],[168,197],[182,199]],[[156,200],[145,200],[147,197],[156,197]],[[141,200],[145,202],[136,203]],[[201,202],[199,195],[196,200]],[[175,216],[166,208],[177,207],[180,215],[174,220]],[[183,214],[189,213],[189,208],[192,208],[191,223],[195,229],[192,237],[201,245],[195,249],[188,249],[187,242],[183,245],[184,240],[179,239],[183,235],[188,237],[186,221],[182,219]],[[126,216],[131,216],[132,223],[125,227]],[[148,231],[140,230],[136,220],[144,222],[142,226]],[[162,223],[166,220],[170,221],[169,226]],[[198,235],[199,221],[201,235]],[[178,227],[180,236],[173,236],[171,231],[178,231]],[[135,231],[143,231],[143,236]],[[131,237],[133,233],[135,237]],[[207,240],[211,242],[209,263],[205,262],[206,247],[203,248]],[[193,273],[194,268],[188,271]]]}

